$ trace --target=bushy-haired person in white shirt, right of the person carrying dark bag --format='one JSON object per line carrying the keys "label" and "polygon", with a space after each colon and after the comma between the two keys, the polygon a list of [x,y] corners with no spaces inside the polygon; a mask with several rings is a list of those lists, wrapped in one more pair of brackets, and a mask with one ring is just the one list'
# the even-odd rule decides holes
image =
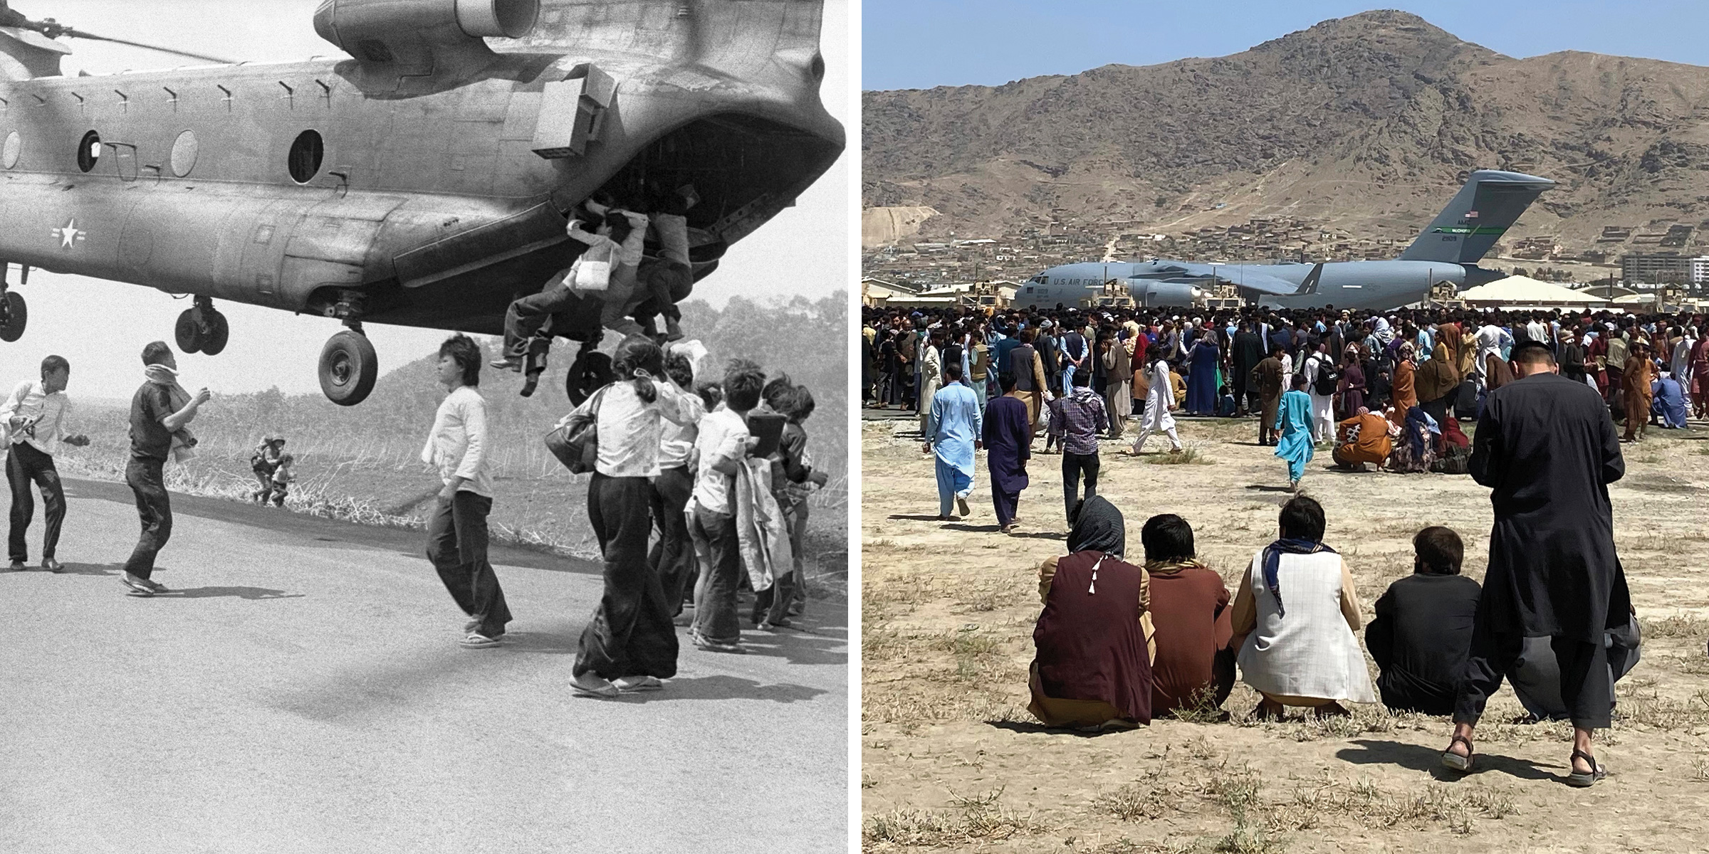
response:
{"label": "bushy-haired person in white shirt, right of the person carrying dark bag", "polygon": [[737,540],[735,471],[754,447],[747,413],[759,407],[766,374],[755,366],[735,362],[725,372],[725,408],[701,418],[694,449],[701,465],[694,480],[692,531],[711,552],[711,565],[701,570],[696,588],[694,627],[689,639],[701,649],[740,652],[742,617],[737,610],[737,584],[742,577],[742,547]]}

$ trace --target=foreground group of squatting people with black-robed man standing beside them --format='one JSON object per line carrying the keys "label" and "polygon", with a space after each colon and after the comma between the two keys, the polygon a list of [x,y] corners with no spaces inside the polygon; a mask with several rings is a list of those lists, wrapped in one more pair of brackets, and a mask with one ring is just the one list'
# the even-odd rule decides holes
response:
{"label": "foreground group of squatting people with black-robed man standing beside them", "polygon": [[[1290,707],[1345,716],[1345,704],[1379,697],[1396,712],[1453,716],[1441,763],[1466,772],[1485,704],[1511,680],[1533,719],[1572,721],[1567,782],[1600,781],[1591,736],[1608,726],[1613,681],[1639,646],[1608,500],[1625,471],[1620,441],[1606,400],[1565,376],[1542,340],[1511,355],[1514,377],[1485,396],[1470,456],[1495,516],[1483,584],[1459,574],[1458,533],[1424,528],[1413,574],[1376,600],[1365,625],[1323,506],[1295,495],[1230,596],[1196,557],[1186,519],[1148,518],[1140,560],[1126,550],[1123,514],[1092,495],[1070,512],[1068,553],[1037,570],[1032,714],[1082,729],[1225,719],[1239,673],[1261,697],[1254,719]],[[1360,632],[1381,671],[1374,681]]]}

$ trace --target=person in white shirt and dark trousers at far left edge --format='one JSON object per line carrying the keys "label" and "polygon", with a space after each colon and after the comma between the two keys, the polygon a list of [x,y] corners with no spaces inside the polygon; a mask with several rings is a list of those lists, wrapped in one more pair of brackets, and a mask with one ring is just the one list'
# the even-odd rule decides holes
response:
{"label": "person in white shirt and dark trousers at far left edge", "polygon": [[60,526],[65,523],[65,490],[60,488],[60,473],[53,468],[53,453],[60,442],[89,444],[80,436],[63,436],[65,418],[65,384],[70,381],[72,366],[58,355],[41,360],[41,379],[24,381],[12,389],[5,405],[0,405],[0,442],[10,451],[5,461],[5,478],[12,487],[12,529],[7,550],[12,557],[9,569],[24,569],[29,552],[24,545],[24,531],[29,529],[36,514],[36,497],[29,487],[34,483],[41,490],[41,504],[46,511],[46,529],[41,535],[41,569],[65,572],[55,559],[60,543]]}

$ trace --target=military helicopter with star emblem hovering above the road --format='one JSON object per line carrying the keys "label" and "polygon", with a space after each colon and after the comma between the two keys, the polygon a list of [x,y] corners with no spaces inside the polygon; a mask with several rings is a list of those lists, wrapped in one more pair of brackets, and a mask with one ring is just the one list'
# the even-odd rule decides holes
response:
{"label": "military helicopter with star emblem hovering above the road", "polygon": [[[692,186],[699,280],[843,152],[819,99],[820,15],[819,0],[325,0],[314,29],[344,58],[65,77],[58,39],[103,36],[0,0],[0,340],[27,323],[9,265],[24,285],[41,268],[191,295],[185,352],[226,347],[215,299],[320,314],[345,326],[321,391],[355,405],[379,374],[364,323],[499,333],[583,249],[566,225],[595,193],[644,210]],[[596,299],[552,333],[588,352]]]}

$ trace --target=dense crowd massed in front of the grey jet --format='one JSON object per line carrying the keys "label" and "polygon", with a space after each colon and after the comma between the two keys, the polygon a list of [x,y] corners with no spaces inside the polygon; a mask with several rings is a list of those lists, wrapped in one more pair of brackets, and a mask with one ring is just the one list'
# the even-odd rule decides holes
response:
{"label": "dense crowd massed in front of the grey jet", "polygon": [[[1003,405],[998,427],[1024,418],[1032,434],[1042,432],[1042,453],[1061,453],[1065,482],[1084,478],[1089,495],[1101,465],[1097,439],[1121,439],[1136,417],[1135,454],[1154,436],[1181,451],[1176,413],[1256,415],[1258,442],[1275,447],[1297,487],[1319,447],[1348,470],[1465,473],[1471,442],[1458,422],[1475,420],[1489,395],[1512,383],[1514,347],[1528,342],[1545,347],[1562,376],[1596,389],[1624,424],[1624,441],[1639,441],[1649,425],[1682,429],[1690,415],[1709,417],[1704,331],[1702,314],[1610,311],[868,307],[861,396],[866,407],[918,412],[928,446],[957,473],[950,482],[962,483],[947,494],[960,500],[972,453],[947,447],[933,430],[947,418],[954,436],[945,437],[981,434],[974,437],[990,442],[986,405],[1003,396],[1019,400],[1025,415]],[[957,395],[967,400],[950,400],[945,417],[933,418],[937,396],[952,383],[971,395]],[[979,424],[971,410],[979,410]],[[1020,482],[1032,453],[1031,436],[1024,439],[998,439],[993,488]],[[1005,504],[1017,492],[998,488],[995,497],[1005,529],[1013,519]],[[947,500],[943,507],[948,514]]]}

